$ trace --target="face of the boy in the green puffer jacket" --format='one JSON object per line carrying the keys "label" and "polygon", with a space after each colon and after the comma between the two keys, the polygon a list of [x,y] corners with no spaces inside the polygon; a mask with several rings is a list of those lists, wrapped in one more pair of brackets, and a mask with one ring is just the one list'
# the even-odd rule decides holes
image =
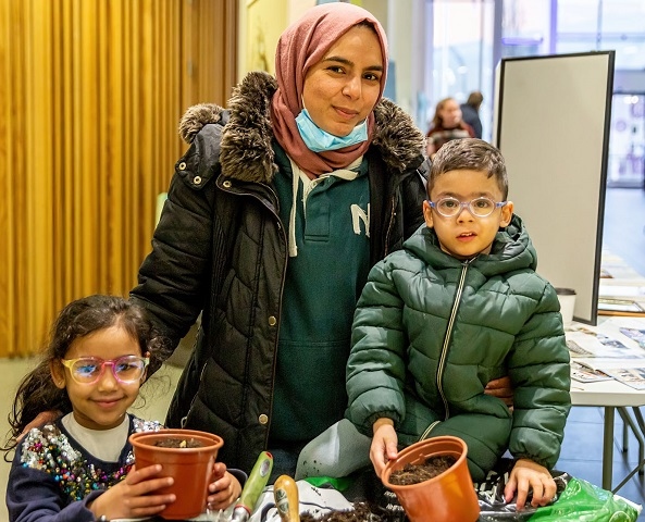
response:
{"label": "face of the boy in the green puffer jacket", "polygon": [[[448,171],[441,174],[432,189],[431,201],[442,198],[456,198],[459,201],[471,201],[486,197],[494,202],[503,201],[501,190],[495,177],[487,177],[483,171]],[[442,250],[457,259],[470,259],[477,253],[489,253],[495,234],[499,227],[508,226],[513,213],[513,203],[508,202],[496,208],[486,217],[473,215],[468,207],[462,207],[457,215],[446,217],[433,209],[427,201],[423,202],[425,224],[434,228]]]}

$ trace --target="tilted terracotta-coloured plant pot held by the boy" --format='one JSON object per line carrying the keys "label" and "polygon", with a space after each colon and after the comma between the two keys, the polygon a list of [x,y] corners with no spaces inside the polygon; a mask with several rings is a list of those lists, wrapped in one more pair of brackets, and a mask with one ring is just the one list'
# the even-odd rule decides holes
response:
{"label": "tilted terracotta-coloured plant pot held by the boy", "polygon": [[[468,471],[467,451],[462,439],[442,436],[412,444],[387,463],[381,480],[396,494],[410,522],[475,522],[479,519],[480,505]],[[389,482],[395,470],[406,464],[423,464],[430,457],[439,455],[455,457],[457,462],[418,484],[402,486]]]}

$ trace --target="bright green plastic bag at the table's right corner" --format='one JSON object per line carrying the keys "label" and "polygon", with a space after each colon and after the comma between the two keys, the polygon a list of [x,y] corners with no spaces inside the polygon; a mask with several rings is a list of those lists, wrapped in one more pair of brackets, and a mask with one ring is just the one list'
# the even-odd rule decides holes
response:
{"label": "bright green plastic bag at the table's right corner", "polygon": [[530,522],[632,522],[638,518],[636,505],[598,486],[571,477],[558,500],[537,508]]}

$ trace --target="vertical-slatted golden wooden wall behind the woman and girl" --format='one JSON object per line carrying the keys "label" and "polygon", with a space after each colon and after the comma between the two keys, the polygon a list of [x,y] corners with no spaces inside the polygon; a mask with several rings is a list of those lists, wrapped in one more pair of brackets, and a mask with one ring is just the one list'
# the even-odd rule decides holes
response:
{"label": "vertical-slatted golden wooden wall behind the woman and girl", "polygon": [[237,0],[0,0],[0,357],[127,295],[187,107],[236,79]]}

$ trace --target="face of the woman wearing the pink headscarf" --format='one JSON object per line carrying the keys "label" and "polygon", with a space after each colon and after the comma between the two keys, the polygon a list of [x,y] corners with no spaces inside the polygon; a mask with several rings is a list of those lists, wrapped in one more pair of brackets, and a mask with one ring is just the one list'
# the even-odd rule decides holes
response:
{"label": "face of the woman wearing the pink headscarf", "polygon": [[352,27],[307,72],[302,101],[311,120],[347,136],[372,111],[383,74],[379,37],[369,27]]}

